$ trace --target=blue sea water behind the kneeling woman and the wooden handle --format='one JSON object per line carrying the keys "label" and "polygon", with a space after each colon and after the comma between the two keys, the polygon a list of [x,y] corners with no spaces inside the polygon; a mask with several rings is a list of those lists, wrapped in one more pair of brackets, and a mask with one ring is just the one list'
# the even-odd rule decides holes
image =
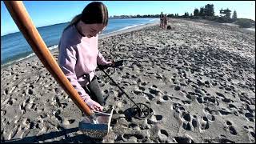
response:
{"label": "blue sea water behind the kneeling woman and the wooden handle", "polygon": [[[102,34],[109,34],[158,21],[158,18],[110,18],[109,24]],[[50,50],[58,48],[58,41],[61,38],[62,30],[67,25],[68,23],[66,22],[38,27],[39,34]],[[1,36],[1,66],[9,66],[14,62],[19,62],[34,55],[34,51],[26,42],[22,33],[17,32]]]}

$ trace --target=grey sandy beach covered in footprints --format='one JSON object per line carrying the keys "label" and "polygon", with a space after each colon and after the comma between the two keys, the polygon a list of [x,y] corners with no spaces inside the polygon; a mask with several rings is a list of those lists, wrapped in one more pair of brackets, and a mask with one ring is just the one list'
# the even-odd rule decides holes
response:
{"label": "grey sandy beach covered in footprints", "polygon": [[[80,130],[81,111],[37,57],[1,69],[1,142],[255,142],[255,31],[170,19],[103,36],[110,77],[154,114],[127,118],[133,103],[97,70],[106,106],[103,140]],[[52,52],[58,58],[58,50]]]}

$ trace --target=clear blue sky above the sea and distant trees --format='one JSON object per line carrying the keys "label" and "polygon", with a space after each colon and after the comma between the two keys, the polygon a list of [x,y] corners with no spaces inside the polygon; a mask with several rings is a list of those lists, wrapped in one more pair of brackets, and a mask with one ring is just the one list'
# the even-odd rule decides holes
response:
{"label": "clear blue sky above the sea and distant trees", "polygon": [[[49,26],[56,23],[70,22],[76,14],[92,1],[24,1],[27,12],[36,27]],[[194,12],[195,8],[214,4],[214,14],[228,8],[233,14],[237,11],[238,18],[255,20],[254,1],[100,1],[103,2],[109,16],[137,14],[178,14]],[[17,32],[18,27],[11,18],[6,6],[1,1],[1,36]]]}

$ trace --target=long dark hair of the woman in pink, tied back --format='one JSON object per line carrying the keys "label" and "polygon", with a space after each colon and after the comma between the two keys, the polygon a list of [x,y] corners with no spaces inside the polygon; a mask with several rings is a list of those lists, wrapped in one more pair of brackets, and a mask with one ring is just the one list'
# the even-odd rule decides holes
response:
{"label": "long dark hair of the woman in pink, tied back", "polygon": [[76,15],[66,28],[77,24],[80,20],[86,24],[102,23],[106,26],[109,20],[108,10],[102,2],[90,2],[82,10],[82,14]]}

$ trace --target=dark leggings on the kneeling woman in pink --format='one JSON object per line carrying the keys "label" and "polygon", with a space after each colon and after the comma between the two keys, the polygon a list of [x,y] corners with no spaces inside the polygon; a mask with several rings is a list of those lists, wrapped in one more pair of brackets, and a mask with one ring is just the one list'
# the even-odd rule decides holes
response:
{"label": "dark leggings on the kneeling woman in pink", "polygon": [[86,90],[86,93],[90,95],[90,98],[92,100],[94,100],[95,102],[98,102],[102,106],[105,105],[104,98],[102,95],[102,90],[98,85],[96,76],[94,76],[92,81],[87,86],[83,86],[82,88]]}

